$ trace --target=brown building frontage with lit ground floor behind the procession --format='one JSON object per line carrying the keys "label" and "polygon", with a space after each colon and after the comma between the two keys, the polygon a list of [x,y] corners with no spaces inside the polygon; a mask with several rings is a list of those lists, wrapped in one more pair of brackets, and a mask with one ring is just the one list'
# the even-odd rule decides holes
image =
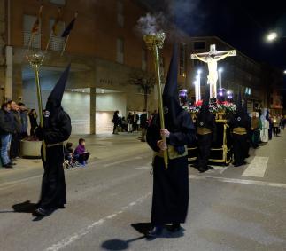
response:
{"label": "brown building frontage with lit ground floor behind the procession", "polygon": [[[35,75],[27,62],[28,44],[33,50],[45,54],[41,67],[43,104],[60,73],[72,63],[63,106],[71,115],[73,134],[94,134],[112,130],[112,114],[120,111],[141,112],[144,106],[143,89],[130,84],[134,72],[152,75],[154,63],[142,35],[136,32],[137,20],[150,12],[139,0],[43,0],[43,13],[38,32],[31,40],[31,30],[39,11],[35,0],[0,0],[0,98],[23,101],[29,108],[37,108]],[[61,8],[62,19],[58,33],[50,35],[51,27]],[[66,52],[61,56],[65,40],[61,34],[78,18],[69,37]],[[170,26],[172,27],[172,26]],[[215,43],[218,50],[233,49],[216,37],[191,38],[177,28],[166,33],[166,43],[161,50],[162,80],[166,79],[172,55],[171,40],[179,40],[178,82],[180,89],[194,88],[192,82],[198,68],[203,68],[206,82],[207,69],[189,56],[205,52]],[[175,33],[174,33],[175,30]],[[47,43],[50,40],[50,46]],[[47,50],[46,50],[47,49]],[[221,61],[224,67],[223,87],[248,90],[252,106],[264,106],[261,98],[260,65],[238,53],[238,57]],[[206,83],[205,83],[206,84]],[[246,93],[246,92],[245,92]],[[158,106],[156,87],[148,93],[148,110]],[[257,105],[262,104],[262,105]]]}

